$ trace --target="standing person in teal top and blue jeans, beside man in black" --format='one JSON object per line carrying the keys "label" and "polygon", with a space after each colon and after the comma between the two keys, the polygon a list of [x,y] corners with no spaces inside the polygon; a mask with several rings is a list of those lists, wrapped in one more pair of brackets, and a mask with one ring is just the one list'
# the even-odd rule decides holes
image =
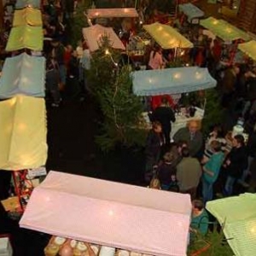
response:
{"label": "standing person in teal top and blue jeans, beside man in black", "polygon": [[212,141],[212,155],[207,159],[202,167],[202,195],[204,204],[211,201],[213,197],[213,184],[218,178],[219,170],[224,161],[224,153],[221,151],[221,143]]}

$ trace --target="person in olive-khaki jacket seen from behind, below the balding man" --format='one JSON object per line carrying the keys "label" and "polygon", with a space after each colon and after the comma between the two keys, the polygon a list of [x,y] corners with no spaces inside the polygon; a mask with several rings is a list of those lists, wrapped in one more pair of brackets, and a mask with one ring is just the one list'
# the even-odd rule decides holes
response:
{"label": "person in olive-khaki jacket seen from behind, below the balding man", "polygon": [[182,156],[183,160],[177,165],[176,174],[179,191],[183,194],[189,194],[191,200],[194,200],[201,178],[201,164],[189,155],[189,148],[182,149]]}

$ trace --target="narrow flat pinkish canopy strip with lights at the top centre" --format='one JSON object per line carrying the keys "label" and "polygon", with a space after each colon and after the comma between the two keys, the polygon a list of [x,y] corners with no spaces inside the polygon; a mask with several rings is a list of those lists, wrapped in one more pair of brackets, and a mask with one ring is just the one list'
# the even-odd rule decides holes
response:
{"label": "narrow flat pinkish canopy strip with lights at the top centre", "polygon": [[87,15],[89,19],[96,18],[122,18],[122,17],[138,17],[137,10],[134,8],[115,8],[115,9],[88,9]]}

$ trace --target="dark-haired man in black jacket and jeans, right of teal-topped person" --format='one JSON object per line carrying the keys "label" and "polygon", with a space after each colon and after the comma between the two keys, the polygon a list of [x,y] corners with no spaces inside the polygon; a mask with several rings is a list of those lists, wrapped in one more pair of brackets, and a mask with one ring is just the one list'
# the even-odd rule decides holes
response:
{"label": "dark-haired man in black jacket and jeans, right of teal-topped person", "polygon": [[227,174],[224,186],[224,195],[232,195],[237,179],[247,168],[247,150],[244,146],[244,137],[236,135],[233,139],[233,148],[224,160],[224,169]]}

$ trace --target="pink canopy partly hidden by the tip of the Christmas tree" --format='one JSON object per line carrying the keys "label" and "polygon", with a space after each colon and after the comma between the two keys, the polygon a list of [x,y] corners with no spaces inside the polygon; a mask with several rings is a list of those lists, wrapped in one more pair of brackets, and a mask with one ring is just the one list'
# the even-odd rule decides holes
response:
{"label": "pink canopy partly hidden by the tip of the Christmas tree", "polygon": [[113,31],[112,27],[105,27],[96,24],[95,26],[89,26],[83,28],[83,35],[90,51],[99,49],[101,44],[101,38],[107,35],[112,43],[112,47],[115,49],[125,49],[124,44],[121,42],[117,34]]}

